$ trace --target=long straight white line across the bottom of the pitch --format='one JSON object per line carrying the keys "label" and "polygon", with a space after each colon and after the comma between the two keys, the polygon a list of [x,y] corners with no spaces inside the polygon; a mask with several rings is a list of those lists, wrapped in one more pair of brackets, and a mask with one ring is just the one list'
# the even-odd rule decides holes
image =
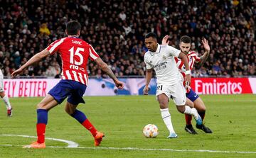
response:
{"label": "long straight white line across the bottom of the pitch", "polygon": [[[11,147],[22,147],[23,145],[0,145]],[[75,149],[113,149],[113,150],[144,150],[144,151],[167,151],[167,152],[215,152],[215,153],[236,153],[236,154],[256,154],[256,152],[220,151],[209,149],[146,149],[137,147],[58,147],[47,146],[48,148],[75,148]]]}

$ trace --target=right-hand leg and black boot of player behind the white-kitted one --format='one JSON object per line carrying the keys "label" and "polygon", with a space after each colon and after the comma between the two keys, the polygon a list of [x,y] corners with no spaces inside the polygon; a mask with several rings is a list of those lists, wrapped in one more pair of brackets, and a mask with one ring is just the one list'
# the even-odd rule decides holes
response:
{"label": "right-hand leg and black boot of player behind the white-kitted one", "polygon": [[[206,106],[203,103],[202,99],[200,97],[196,98],[196,101],[193,102],[195,108],[197,109],[199,115],[201,116],[202,120],[205,118],[206,115]],[[206,125],[198,125],[196,124],[196,128],[203,130],[203,132],[206,133],[212,133],[212,130],[210,128],[206,127]]]}

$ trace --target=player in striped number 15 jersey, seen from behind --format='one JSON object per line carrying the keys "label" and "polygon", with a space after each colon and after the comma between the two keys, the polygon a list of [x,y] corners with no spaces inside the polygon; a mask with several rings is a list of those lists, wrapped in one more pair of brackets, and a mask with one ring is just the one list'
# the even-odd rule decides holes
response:
{"label": "player in striped number 15 jersey, seen from behind", "polygon": [[68,35],[66,38],[55,40],[45,50],[38,52],[31,57],[26,64],[23,64],[19,69],[11,74],[14,79],[16,75],[21,74],[26,67],[38,62],[48,55],[59,53],[62,60],[63,71],[61,73],[61,80],[51,89],[43,100],[37,105],[37,124],[36,130],[38,140],[31,145],[24,146],[25,148],[45,148],[45,132],[46,124],[48,122],[48,111],[62,103],[68,97],[65,105],[65,111],[78,120],[87,130],[89,130],[95,139],[95,146],[100,145],[103,132],[98,132],[96,128],[90,123],[88,118],[82,111],[77,109],[79,103],[85,103],[82,96],[88,85],[87,74],[87,60],[96,62],[98,67],[113,79],[114,84],[118,89],[123,89],[124,84],[114,76],[112,70],[108,65],[101,60],[93,47],[81,40],[80,35],[81,26],[78,21],[70,21],[66,24],[65,33]]}

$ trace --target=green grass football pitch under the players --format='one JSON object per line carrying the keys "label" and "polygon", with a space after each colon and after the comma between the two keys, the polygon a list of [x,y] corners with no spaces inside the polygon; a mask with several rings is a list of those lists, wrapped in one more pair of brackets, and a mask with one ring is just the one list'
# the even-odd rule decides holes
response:
{"label": "green grass football pitch under the players", "polygon": [[[212,95],[201,98],[206,104],[204,123],[213,134],[196,129],[198,135],[184,130],[185,117],[178,113],[173,101],[169,108],[176,139],[166,139],[169,132],[161,119],[155,96],[85,97],[83,111],[97,130],[105,132],[100,147],[77,120],[64,111],[65,101],[50,110],[46,137],[69,140],[46,140],[46,149],[23,149],[36,138],[36,104],[42,98],[10,98],[14,115],[6,116],[0,102],[0,157],[256,157],[256,95]],[[156,138],[142,135],[144,125],[159,128]],[[23,136],[21,136],[23,135]]]}

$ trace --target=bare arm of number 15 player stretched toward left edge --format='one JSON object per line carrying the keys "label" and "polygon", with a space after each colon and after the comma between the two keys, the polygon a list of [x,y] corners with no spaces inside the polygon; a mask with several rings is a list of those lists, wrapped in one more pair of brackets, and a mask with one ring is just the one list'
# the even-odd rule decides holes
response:
{"label": "bare arm of number 15 player stretched toward left edge", "polygon": [[21,72],[23,72],[23,70],[26,69],[26,67],[29,67],[31,64],[34,64],[34,63],[40,61],[41,59],[43,59],[43,57],[46,57],[48,55],[50,55],[50,52],[47,49],[45,49],[41,52],[38,52],[36,55],[31,57],[31,59],[28,60],[28,62],[23,64],[20,68],[16,69],[16,71],[14,71],[11,74],[11,79],[14,79],[14,77],[16,77],[18,74],[21,74]]}

